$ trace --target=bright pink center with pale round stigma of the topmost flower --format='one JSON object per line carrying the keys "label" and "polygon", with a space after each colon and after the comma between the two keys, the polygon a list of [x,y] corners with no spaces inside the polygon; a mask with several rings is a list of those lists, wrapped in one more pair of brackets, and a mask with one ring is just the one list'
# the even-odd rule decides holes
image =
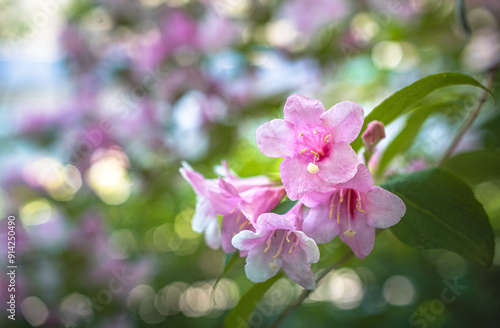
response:
{"label": "bright pink center with pale round stigma of the topmost flower", "polygon": [[307,165],[309,173],[317,173],[319,167],[316,163],[329,155],[331,137],[331,134],[321,130],[307,129],[299,133],[296,148],[299,155],[309,162]]}

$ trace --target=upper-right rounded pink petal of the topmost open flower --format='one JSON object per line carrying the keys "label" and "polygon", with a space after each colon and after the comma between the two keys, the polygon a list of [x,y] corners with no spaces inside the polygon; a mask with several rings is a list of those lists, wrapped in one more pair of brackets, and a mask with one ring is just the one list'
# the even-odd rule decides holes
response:
{"label": "upper-right rounded pink petal of the topmost open flower", "polygon": [[334,142],[351,143],[363,127],[363,107],[353,101],[342,101],[321,115],[321,120],[332,131]]}

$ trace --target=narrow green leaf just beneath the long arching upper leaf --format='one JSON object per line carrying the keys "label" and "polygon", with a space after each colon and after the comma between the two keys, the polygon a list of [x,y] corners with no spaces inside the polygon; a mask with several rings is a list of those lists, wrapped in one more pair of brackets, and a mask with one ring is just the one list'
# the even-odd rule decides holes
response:
{"label": "narrow green leaf just beneath the long arching upper leaf", "polygon": [[406,121],[406,125],[403,127],[401,132],[396,138],[394,138],[394,140],[389,144],[389,146],[387,146],[386,150],[384,151],[377,168],[377,174],[380,175],[384,171],[384,169],[391,162],[394,156],[404,153],[408,149],[410,149],[413,141],[417,137],[418,132],[422,128],[422,125],[431,114],[441,112],[453,104],[435,104],[415,109],[414,113]]}

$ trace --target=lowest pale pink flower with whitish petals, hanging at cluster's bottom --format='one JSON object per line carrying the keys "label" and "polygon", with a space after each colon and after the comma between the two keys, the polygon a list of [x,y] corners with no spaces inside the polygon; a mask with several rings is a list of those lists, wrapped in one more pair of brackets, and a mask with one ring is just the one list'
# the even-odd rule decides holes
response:
{"label": "lowest pale pink flower with whitish petals, hanging at cluster's bottom", "polygon": [[248,254],[245,273],[253,282],[263,282],[283,271],[296,283],[314,289],[316,282],[311,263],[319,261],[319,249],[313,239],[301,231],[303,205],[297,203],[288,213],[259,216],[255,232],[244,230],[233,238],[240,253]]}

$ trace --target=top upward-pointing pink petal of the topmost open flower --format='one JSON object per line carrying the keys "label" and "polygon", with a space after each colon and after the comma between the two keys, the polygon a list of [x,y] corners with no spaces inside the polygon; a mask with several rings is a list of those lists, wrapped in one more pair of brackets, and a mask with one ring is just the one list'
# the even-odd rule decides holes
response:
{"label": "top upward-pointing pink petal of the topmost open flower", "polygon": [[319,100],[294,93],[287,98],[284,113],[285,121],[297,126],[320,125],[319,118],[325,113],[325,106]]}

